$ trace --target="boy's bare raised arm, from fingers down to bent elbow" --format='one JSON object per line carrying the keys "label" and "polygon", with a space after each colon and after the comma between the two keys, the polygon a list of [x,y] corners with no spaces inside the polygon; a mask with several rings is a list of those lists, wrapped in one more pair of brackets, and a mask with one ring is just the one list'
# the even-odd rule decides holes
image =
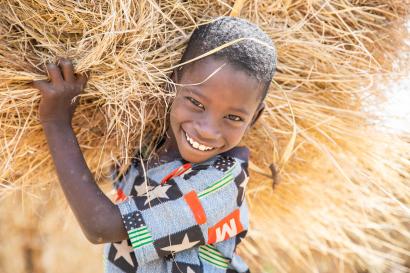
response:
{"label": "boy's bare raised arm, from fingers down to bent elbow", "polygon": [[40,90],[40,122],[61,187],[80,226],[93,243],[127,238],[121,214],[95,183],[71,126],[77,96],[87,82],[74,74],[71,61],[47,64],[50,81],[33,82]]}

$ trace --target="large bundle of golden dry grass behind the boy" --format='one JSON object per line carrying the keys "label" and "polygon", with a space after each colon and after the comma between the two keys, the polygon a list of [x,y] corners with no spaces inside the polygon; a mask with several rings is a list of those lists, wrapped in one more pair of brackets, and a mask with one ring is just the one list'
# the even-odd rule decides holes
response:
{"label": "large bundle of golden dry grass behind the boy", "polygon": [[[30,232],[6,232],[2,225],[2,240],[55,230],[41,223],[62,211],[47,209],[56,207],[49,198],[56,177],[37,118],[40,96],[29,86],[44,77],[45,62],[65,56],[78,72],[91,73],[74,128],[102,182],[113,160],[126,168],[135,149],[152,149],[172,99],[163,87],[190,32],[229,14],[233,4],[0,2],[1,204],[16,194],[23,196],[19,206],[41,201],[18,225]],[[253,153],[252,228],[240,251],[256,272],[408,270],[410,142],[381,133],[366,112],[381,95],[374,80],[391,77],[399,51],[406,49],[408,12],[401,0],[245,2],[241,17],[270,34],[279,56],[267,110],[244,140]],[[271,163],[280,178],[273,192]],[[2,271],[25,270],[11,265],[13,254],[16,263],[26,261],[26,269],[45,270],[40,265],[49,261],[50,248],[27,244],[35,242],[0,250]],[[71,272],[79,262],[71,265],[61,268]]]}

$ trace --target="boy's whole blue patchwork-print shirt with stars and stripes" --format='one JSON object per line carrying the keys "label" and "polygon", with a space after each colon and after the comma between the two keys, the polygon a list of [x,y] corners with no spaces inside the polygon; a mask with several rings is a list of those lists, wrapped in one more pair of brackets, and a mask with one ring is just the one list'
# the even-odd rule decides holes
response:
{"label": "boy's whole blue patchwork-print shirt with stars and stripes", "polygon": [[116,205],[129,238],[105,245],[105,272],[249,272],[235,252],[248,229],[248,155],[235,147],[163,184],[187,162],[150,168],[146,177],[133,162],[116,183],[127,196]]}

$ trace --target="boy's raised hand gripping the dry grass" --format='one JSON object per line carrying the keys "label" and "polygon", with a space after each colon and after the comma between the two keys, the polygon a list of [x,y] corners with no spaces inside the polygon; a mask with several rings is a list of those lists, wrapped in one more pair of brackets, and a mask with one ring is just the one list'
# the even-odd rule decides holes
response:
{"label": "boy's raised hand gripping the dry grass", "polygon": [[47,64],[50,81],[34,81],[33,87],[40,90],[40,122],[55,122],[71,125],[74,110],[87,83],[86,75],[75,75],[70,60],[60,59],[58,64]]}

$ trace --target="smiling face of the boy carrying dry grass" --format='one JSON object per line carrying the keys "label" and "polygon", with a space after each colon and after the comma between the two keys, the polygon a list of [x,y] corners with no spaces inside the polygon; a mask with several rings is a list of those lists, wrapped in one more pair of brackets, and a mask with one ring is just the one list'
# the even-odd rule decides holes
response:
{"label": "smiling face of the boy carrying dry grass", "polygon": [[172,138],[192,163],[237,146],[263,109],[259,81],[214,57],[189,65],[178,83],[185,86],[177,86],[171,107]]}

